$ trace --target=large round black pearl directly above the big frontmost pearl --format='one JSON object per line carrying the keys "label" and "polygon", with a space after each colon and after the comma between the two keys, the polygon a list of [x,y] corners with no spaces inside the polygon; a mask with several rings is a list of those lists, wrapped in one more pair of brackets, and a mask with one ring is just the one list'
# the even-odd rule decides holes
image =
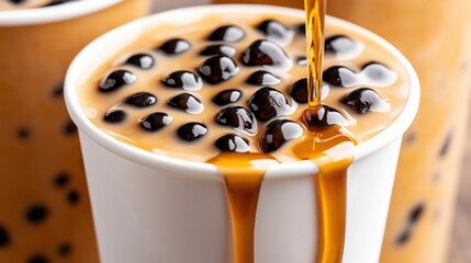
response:
{"label": "large round black pearl directly above the big frontmost pearl", "polygon": [[279,90],[265,87],[259,89],[248,101],[250,111],[260,122],[287,115],[291,105],[288,99]]}

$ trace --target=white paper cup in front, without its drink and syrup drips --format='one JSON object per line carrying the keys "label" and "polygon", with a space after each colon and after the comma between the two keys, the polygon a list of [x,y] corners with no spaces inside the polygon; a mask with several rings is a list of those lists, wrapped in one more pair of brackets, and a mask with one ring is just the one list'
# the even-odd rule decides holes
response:
{"label": "white paper cup in front, without its drink and syrup drips", "polygon": [[[144,28],[191,23],[213,12],[294,14],[268,5],[206,5],[159,13],[112,31],[75,59],[66,79],[66,103],[79,127],[99,249],[103,263],[222,263],[233,261],[229,208],[223,175],[208,163],[158,156],[121,142],[86,116],[77,92],[101,61]],[[411,125],[419,84],[410,62],[389,43],[350,23],[327,23],[359,32],[383,45],[407,69],[412,91],[404,112],[385,130],[356,147],[348,169],[344,262],[378,262],[403,133]],[[126,36],[126,37],[123,37]],[[255,261],[311,263],[316,255],[317,211],[309,161],[273,165],[259,196]]]}

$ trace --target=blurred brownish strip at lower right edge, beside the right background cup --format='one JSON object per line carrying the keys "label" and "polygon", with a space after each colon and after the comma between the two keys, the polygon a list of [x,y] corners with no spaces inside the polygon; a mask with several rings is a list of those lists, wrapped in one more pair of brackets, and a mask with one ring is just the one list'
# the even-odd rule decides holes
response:
{"label": "blurred brownish strip at lower right edge, beside the right background cup", "polygon": [[[468,138],[471,138],[471,119]],[[471,263],[471,140],[468,139],[462,168],[458,210],[450,247],[450,263]]]}

